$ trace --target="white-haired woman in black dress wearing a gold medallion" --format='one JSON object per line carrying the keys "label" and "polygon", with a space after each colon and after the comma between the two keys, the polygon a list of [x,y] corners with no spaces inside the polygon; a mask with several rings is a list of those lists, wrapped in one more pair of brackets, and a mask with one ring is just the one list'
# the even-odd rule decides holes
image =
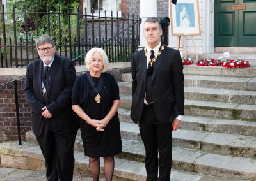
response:
{"label": "white-haired woman in black dress wearing a gold medallion", "polygon": [[108,57],[102,48],[92,48],[85,57],[88,72],[77,77],[72,89],[72,107],[80,117],[84,155],[90,157],[93,180],[99,180],[100,157],[104,157],[106,180],[112,180],[114,156],[122,152],[118,107],[119,89],[106,73]]}

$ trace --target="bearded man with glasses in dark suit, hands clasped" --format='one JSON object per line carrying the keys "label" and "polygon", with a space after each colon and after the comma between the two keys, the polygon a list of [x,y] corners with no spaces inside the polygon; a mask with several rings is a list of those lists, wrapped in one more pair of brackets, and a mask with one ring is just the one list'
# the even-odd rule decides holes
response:
{"label": "bearded man with glasses in dark suit, hands clasped", "polygon": [[28,64],[24,87],[33,132],[45,158],[47,180],[72,180],[79,127],[71,105],[76,69],[70,59],[55,54],[49,36],[40,36],[36,47],[40,59]]}

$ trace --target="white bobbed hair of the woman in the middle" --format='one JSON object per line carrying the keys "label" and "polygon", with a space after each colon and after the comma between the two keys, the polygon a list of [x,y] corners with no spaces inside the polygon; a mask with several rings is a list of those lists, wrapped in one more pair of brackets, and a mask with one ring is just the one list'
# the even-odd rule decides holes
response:
{"label": "white bobbed hair of the woman in the middle", "polygon": [[85,66],[86,68],[90,71],[90,62],[92,61],[92,55],[95,52],[99,52],[100,55],[102,55],[103,58],[103,69],[102,72],[106,72],[108,71],[108,56],[106,54],[106,52],[102,49],[102,48],[92,48],[91,50],[89,50],[85,56]]}

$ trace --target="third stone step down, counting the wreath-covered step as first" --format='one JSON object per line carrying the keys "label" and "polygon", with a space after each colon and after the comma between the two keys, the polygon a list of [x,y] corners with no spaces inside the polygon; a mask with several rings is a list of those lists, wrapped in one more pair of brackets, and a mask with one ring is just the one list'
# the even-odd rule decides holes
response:
{"label": "third stone step down, counting the wreath-covered step as first", "polygon": [[[120,94],[131,94],[132,85],[129,82],[119,82]],[[256,104],[256,91],[242,91],[234,89],[216,89],[208,87],[184,87],[185,99],[200,101],[217,101],[239,104]]]}

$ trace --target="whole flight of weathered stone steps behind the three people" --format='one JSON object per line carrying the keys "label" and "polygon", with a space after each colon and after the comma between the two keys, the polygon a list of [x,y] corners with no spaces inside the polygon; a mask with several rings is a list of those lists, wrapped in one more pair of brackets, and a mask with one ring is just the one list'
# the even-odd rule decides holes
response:
{"label": "whole flight of weathered stone steps behind the three people", "polygon": [[[185,115],[173,133],[171,180],[256,180],[256,66],[184,66]],[[145,150],[138,126],[130,119],[131,73],[122,75],[120,109],[122,154],[115,178],[145,180]],[[88,173],[81,136],[75,143],[74,174]],[[44,170],[44,158],[32,132],[26,141],[0,144],[2,166]],[[101,170],[103,173],[103,170]]]}

